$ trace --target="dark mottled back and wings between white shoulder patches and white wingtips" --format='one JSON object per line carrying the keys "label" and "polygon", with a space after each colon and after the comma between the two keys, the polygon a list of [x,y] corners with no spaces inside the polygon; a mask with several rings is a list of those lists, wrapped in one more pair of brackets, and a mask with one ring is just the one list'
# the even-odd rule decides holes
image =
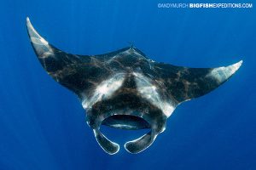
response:
{"label": "dark mottled back and wings between white shoulder patches and white wingtips", "polygon": [[[41,64],[49,75],[79,96],[90,95],[97,84],[110,78],[115,72],[141,71],[145,77],[154,77],[155,85],[165,92],[162,95],[167,93],[177,103],[200,97],[220,85],[213,77],[206,77],[212,69],[157,63],[148,59],[137,48],[123,48],[110,54],[95,56],[65,54],[53,49],[53,57],[39,57]],[[130,54],[122,54],[127,50]],[[112,59],[113,57],[115,58]]]}

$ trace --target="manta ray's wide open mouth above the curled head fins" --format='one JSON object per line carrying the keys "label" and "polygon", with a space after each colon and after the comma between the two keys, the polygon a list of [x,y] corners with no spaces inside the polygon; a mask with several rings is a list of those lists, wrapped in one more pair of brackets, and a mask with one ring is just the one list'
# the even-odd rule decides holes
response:
{"label": "manta ray's wide open mouth above the curled head fins", "polygon": [[138,130],[150,128],[150,124],[142,117],[131,115],[113,115],[108,116],[102,125],[114,128],[121,128],[125,130]]}

